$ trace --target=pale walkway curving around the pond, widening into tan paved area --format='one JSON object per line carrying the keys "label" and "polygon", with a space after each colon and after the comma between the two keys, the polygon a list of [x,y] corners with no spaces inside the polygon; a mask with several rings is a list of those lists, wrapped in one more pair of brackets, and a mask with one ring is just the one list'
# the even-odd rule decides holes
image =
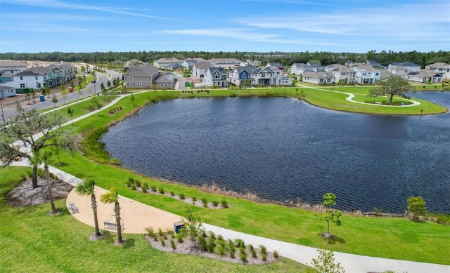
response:
{"label": "pale walkway curving around the pond, widening into tan paved area", "polygon": [[[334,91],[333,91],[334,92]],[[343,92],[338,92],[343,93]],[[349,95],[350,93],[346,93]],[[110,104],[102,107],[101,111],[107,107],[114,105],[118,100],[124,98],[126,95],[122,95],[116,98]],[[84,116],[80,116],[74,121],[84,119],[86,116],[91,116],[96,114],[94,111]],[[68,121],[66,124],[72,124]],[[39,137],[39,135],[35,135]],[[29,151],[29,147],[21,147],[21,150]],[[27,160],[14,162],[13,166],[30,166]],[[70,183],[73,186],[78,185],[82,180],[65,173],[53,166],[49,167],[49,171],[55,174],[60,180]],[[96,195],[99,197],[105,189],[96,187]],[[68,196],[68,201],[74,201],[79,208],[78,213],[72,213],[72,215],[80,220],[86,225],[94,226],[94,220],[89,220],[92,218],[91,214],[91,201],[89,197],[81,198],[75,194],[75,192],[70,192]],[[158,208],[150,207],[146,204],[142,204],[138,201],[132,199],[127,199],[126,197],[120,197],[120,205],[122,207],[121,217],[124,220],[124,233],[145,233],[146,227],[154,227],[158,229],[161,227],[163,230],[174,227],[174,222],[179,221],[181,218],[178,215],[174,215],[167,211],[162,211]],[[111,207],[109,207],[111,206]],[[103,220],[114,220],[112,205],[104,205],[98,202],[99,214],[99,225],[103,227]],[[110,213],[109,213],[110,212]],[[245,234],[243,232],[236,232],[231,229],[225,229],[222,227],[217,227],[214,225],[203,224],[205,229],[212,231],[215,234],[221,234],[225,239],[243,239],[246,244],[252,244],[254,246],[264,245],[269,251],[278,251],[283,257],[290,258],[297,262],[301,262],[305,265],[311,265],[311,260],[317,256],[317,248],[311,248],[308,246],[300,246],[297,244],[286,243],[283,241],[277,241],[274,239],[268,239],[263,237],[257,237],[251,234]],[[108,229],[113,231],[113,229]],[[370,247],[370,246],[368,246]],[[387,270],[392,270],[394,272],[409,272],[409,273],[423,273],[423,272],[434,272],[434,273],[450,273],[449,265],[437,265],[425,262],[411,262],[406,260],[394,260],[386,258],[376,258],[363,255],[354,255],[349,253],[334,252],[335,261],[340,262],[342,267],[346,272],[385,272]]]}

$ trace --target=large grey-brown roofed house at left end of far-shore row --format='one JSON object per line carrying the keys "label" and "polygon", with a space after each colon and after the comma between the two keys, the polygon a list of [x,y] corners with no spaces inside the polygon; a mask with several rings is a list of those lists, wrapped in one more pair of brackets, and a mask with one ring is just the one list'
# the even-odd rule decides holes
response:
{"label": "large grey-brown roofed house at left end of far-shore row", "polygon": [[131,67],[124,74],[126,88],[153,88],[155,79],[160,76],[160,70],[153,65]]}

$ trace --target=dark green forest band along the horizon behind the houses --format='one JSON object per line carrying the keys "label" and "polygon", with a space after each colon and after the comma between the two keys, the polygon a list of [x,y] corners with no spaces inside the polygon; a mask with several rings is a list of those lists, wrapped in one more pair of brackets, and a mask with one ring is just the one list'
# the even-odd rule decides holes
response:
{"label": "dark green forest band along the horizon behind the houses", "polygon": [[280,62],[282,65],[293,65],[293,63],[315,61],[321,65],[333,63],[344,64],[347,60],[364,62],[365,60],[376,60],[381,65],[389,65],[392,62],[414,62],[422,67],[435,62],[450,63],[450,51],[431,51],[428,53],[417,51],[394,52],[394,51],[368,51],[368,53],[333,53],[333,52],[205,52],[205,51],[139,51],[139,52],[93,52],[93,53],[63,53],[63,52],[40,52],[40,53],[0,53],[0,60],[40,60],[48,62],[87,62],[91,64],[109,64],[110,66],[123,65],[127,60],[141,60],[153,63],[160,58],[236,58],[238,60],[260,60],[264,62]]}

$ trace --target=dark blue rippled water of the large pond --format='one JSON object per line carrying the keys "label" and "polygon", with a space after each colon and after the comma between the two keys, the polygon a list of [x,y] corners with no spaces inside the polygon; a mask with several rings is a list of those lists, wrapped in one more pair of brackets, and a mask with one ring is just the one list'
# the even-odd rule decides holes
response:
{"label": "dark blue rippled water of the large pond", "polygon": [[[450,93],[417,93],[450,107]],[[158,102],[110,128],[112,157],[157,178],[215,180],[265,199],[402,213],[420,195],[450,213],[450,114],[381,116],[321,109],[289,98]]]}

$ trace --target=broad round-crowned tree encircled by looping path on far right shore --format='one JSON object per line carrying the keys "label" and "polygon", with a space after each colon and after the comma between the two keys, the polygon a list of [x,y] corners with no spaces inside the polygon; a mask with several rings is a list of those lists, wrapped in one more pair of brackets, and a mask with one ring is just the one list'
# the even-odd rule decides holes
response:
{"label": "broad round-crowned tree encircled by looping path on far right shore", "polygon": [[392,104],[394,95],[399,95],[401,98],[409,98],[406,92],[415,93],[415,88],[409,84],[409,81],[401,78],[401,76],[391,75],[382,81],[378,81],[381,88],[375,88],[369,91],[368,96],[377,97],[378,95],[385,95],[389,98],[389,103]]}

